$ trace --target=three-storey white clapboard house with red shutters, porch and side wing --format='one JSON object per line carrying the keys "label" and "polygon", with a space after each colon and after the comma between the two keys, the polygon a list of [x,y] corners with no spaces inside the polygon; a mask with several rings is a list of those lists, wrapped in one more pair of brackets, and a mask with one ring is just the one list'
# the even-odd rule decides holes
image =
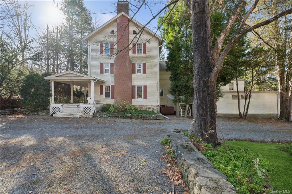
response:
{"label": "three-storey white clapboard house with red shutters, porch and side wing", "polygon": [[[117,104],[121,100],[139,109],[155,111],[159,111],[159,106],[175,106],[168,91],[170,73],[165,63],[159,61],[162,38],[148,28],[141,32],[143,25],[128,14],[128,2],[119,1],[117,15],[84,38],[88,46],[87,75],[64,71],[45,77],[51,81],[50,114],[91,116],[104,104]],[[70,103],[54,102],[55,82],[71,85]],[[87,103],[73,103],[74,85],[87,88]],[[226,88],[226,94],[218,102],[220,116],[236,114],[237,101],[231,96],[235,93],[229,89]],[[253,97],[250,113],[277,114],[277,92],[257,92]],[[178,111],[182,116],[192,114],[190,108],[185,110],[185,104],[180,104]]]}

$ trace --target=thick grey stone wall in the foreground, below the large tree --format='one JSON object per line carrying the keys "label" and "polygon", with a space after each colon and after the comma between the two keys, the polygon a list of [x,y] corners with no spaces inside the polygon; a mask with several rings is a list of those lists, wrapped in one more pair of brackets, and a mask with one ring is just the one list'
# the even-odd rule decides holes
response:
{"label": "thick grey stone wall in the foreground, below the large tree", "polygon": [[171,149],[190,194],[236,194],[226,176],[214,169],[213,164],[193,146],[183,132],[174,130],[170,139]]}

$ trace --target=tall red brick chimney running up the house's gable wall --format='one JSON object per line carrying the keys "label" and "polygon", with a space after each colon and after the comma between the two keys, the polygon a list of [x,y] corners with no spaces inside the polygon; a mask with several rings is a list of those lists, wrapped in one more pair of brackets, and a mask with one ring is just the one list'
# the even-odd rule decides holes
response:
{"label": "tall red brick chimney running up the house's gable wall", "polygon": [[[119,1],[117,14],[129,13],[128,1]],[[129,19],[125,15],[117,18],[117,50],[114,60],[114,100],[119,104],[119,99],[132,103],[132,61],[129,56]]]}

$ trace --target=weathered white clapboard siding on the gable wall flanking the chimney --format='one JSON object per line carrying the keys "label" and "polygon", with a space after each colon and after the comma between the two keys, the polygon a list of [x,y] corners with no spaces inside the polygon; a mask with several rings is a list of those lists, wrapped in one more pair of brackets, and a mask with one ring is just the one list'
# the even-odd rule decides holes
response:
{"label": "weathered white clapboard siding on the gable wall flanking the chimney", "polygon": [[[129,24],[129,43],[134,38],[133,29],[137,32],[137,25],[134,22],[130,22]],[[110,31],[114,30],[114,35],[110,34]],[[137,105],[138,107],[157,107],[159,106],[159,42],[156,37],[152,37],[153,35],[147,31],[144,31],[138,43],[147,43],[147,53],[133,55],[132,53],[132,43],[130,46],[130,50],[128,51],[129,57],[131,58],[132,63],[146,63],[146,74],[131,74],[131,84],[132,85],[147,85],[147,99],[131,99],[133,105]],[[136,39],[135,39],[136,40]],[[100,43],[114,43],[114,53],[117,52],[117,22],[112,22],[104,29],[98,31],[96,34],[91,36],[88,40],[88,44],[91,45],[91,60],[88,64],[91,70],[89,71],[89,75],[105,80],[106,83],[102,85],[115,85],[115,75],[117,74],[116,68],[114,74],[100,74],[100,63],[115,63],[116,57],[111,57],[109,55],[100,55]],[[114,64],[115,65],[115,64]],[[130,67],[132,68],[132,67]],[[132,73],[132,69],[130,69]],[[89,91],[91,90],[91,86],[88,86]],[[121,88],[121,87],[120,87]],[[117,98],[117,91],[119,87],[115,85],[115,97]],[[127,92],[132,97],[131,91]],[[103,96],[100,95],[100,84],[95,83],[95,101],[97,103],[103,104],[114,104],[114,99],[104,99]],[[90,96],[90,94],[89,94]],[[101,99],[98,101],[97,99]],[[147,105],[147,106],[146,106]]]}

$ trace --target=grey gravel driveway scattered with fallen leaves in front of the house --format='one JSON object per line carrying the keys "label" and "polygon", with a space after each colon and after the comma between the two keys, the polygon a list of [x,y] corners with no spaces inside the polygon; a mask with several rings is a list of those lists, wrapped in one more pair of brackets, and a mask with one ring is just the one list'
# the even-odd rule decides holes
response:
{"label": "grey gravel driveway scattered with fallen leaves in front of the house", "polygon": [[[292,139],[291,123],[217,121],[226,138]],[[1,193],[169,193],[159,141],[190,122],[1,117]]]}

